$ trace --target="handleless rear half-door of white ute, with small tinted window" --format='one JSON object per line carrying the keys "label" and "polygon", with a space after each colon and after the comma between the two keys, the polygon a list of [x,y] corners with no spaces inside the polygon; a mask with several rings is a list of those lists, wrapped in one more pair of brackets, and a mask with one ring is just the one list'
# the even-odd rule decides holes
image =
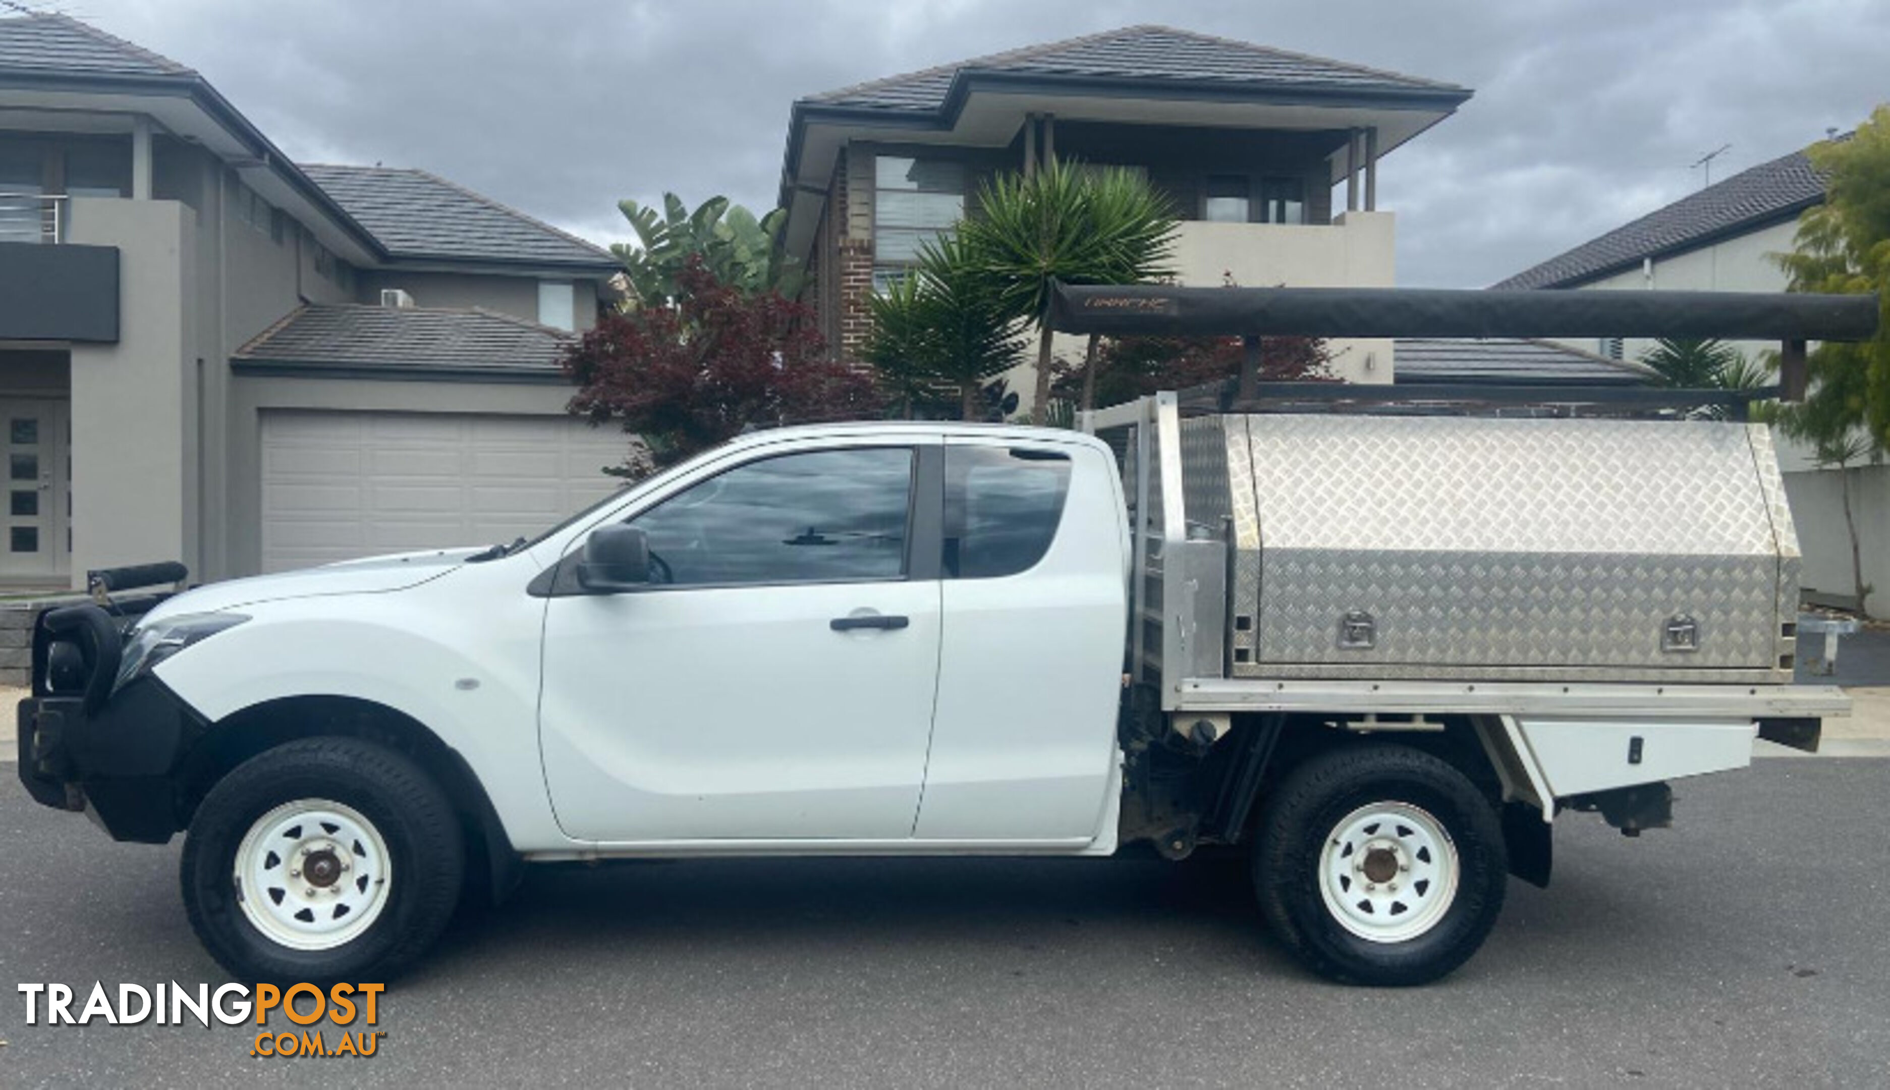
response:
{"label": "handleless rear half-door of white ute, with small tinted window", "polygon": [[939,693],[920,841],[1091,841],[1109,805],[1126,529],[1087,442],[945,444]]}

